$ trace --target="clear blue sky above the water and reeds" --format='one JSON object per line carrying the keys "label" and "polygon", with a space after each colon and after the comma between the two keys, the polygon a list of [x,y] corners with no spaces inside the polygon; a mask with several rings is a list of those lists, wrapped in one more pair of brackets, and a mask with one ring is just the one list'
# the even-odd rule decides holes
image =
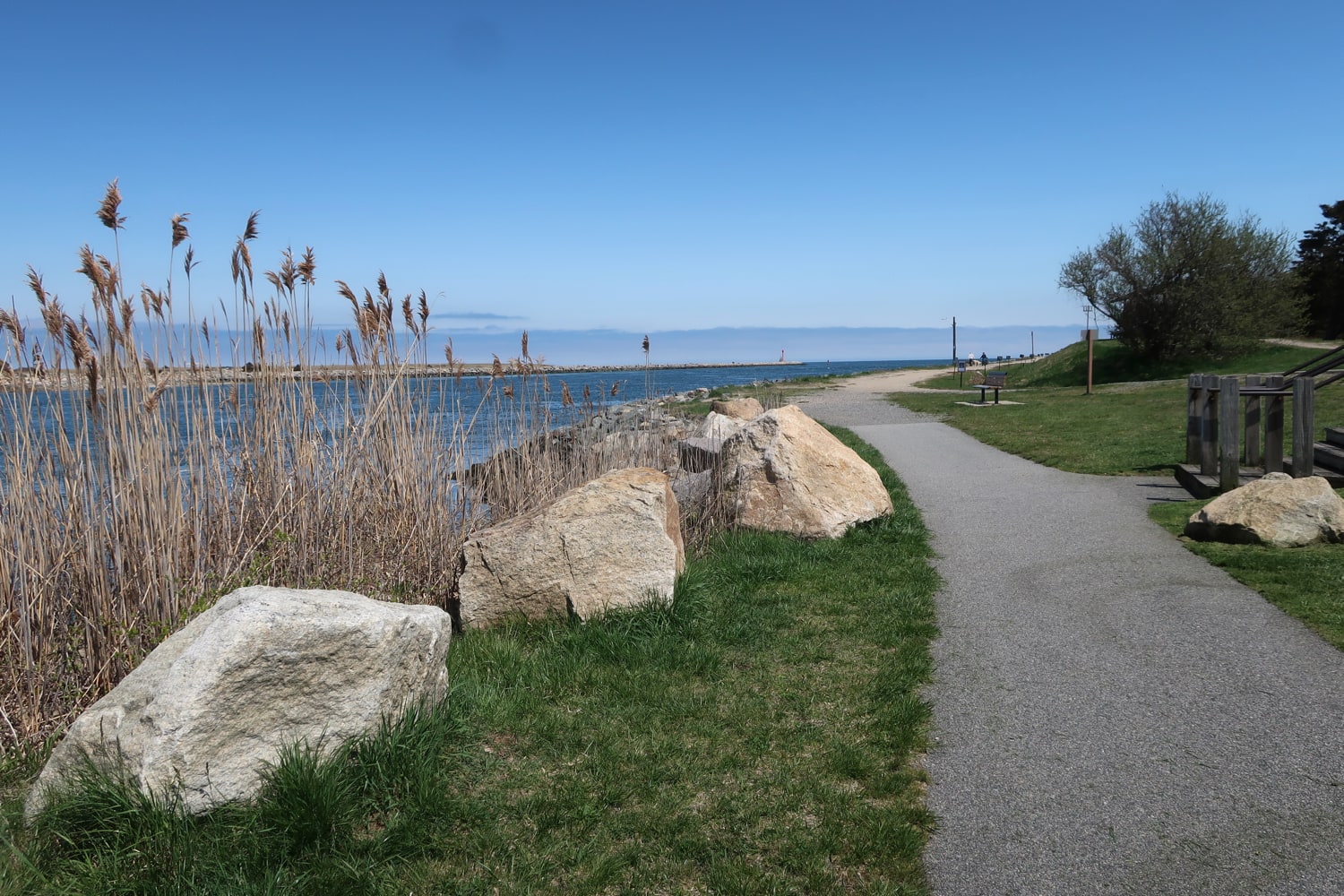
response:
{"label": "clear blue sky above the water and reeds", "polygon": [[[1337,1],[77,1],[4,19],[0,298],[26,314],[30,263],[85,301],[75,250],[113,254],[93,216],[113,177],[132,283],[163,286],[168,220],[190,212],[194,302],[231,308],[228,254],[261,210],[258,282],[313,246],[319,322],[348,325],[333,279],[382,270],[429,294],[441,334],[499,333],[508,355],[544,330],[534,349],[556,360],[567,330],[1077,328],[1059,265],[1167,191],[1294,238],[1344,197]],[[804,344],[790,355],[841,356]]]}

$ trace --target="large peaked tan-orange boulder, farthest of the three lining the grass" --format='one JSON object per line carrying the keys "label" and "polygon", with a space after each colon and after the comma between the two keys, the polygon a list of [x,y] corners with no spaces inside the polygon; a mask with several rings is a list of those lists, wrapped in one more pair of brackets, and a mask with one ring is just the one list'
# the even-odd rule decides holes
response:
{"label": "large peaked tan-orange boulder, farthest of the three lining the grass", "polygon": [[749,529],[837,539],[892,512],[878,472],[793,404],[724,439],[719,463],[724,501]]}

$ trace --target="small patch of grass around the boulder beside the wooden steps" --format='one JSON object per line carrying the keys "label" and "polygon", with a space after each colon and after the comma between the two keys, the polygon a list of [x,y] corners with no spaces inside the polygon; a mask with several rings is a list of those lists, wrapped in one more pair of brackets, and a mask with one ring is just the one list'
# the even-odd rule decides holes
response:
{"label": "small patch of grass around the boulder beside the wooden steps", "polygon": [[[1156,504],[1149,516],[1172,535],[1181,536],[1185,521],[1206,504],[1208,501]],[[1344,650],[1344,549],[1340,545],[1267,548],[1181,540],[1187,548]]]}

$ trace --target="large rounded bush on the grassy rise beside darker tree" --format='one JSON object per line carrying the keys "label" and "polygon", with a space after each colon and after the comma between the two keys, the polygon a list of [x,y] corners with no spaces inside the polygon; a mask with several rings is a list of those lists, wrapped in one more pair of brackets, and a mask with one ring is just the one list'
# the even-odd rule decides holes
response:
{"label": "large rounded bush on the grassy rise beside darker tree", "polygon": [[1292,238],[1236,220],[1207,195],[1167,193],[1129,226],[1116,226],[1059,271],[1059,285],[1114,324],[1137,355],[1169,359],[1222,352],[1301,326]]}

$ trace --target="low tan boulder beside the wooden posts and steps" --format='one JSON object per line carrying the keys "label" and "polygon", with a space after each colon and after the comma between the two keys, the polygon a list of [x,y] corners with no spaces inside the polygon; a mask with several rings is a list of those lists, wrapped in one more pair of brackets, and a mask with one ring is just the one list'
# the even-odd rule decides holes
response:
{"label": "low tan boulder beside the wooden posts and steps", "polygon": [[1185,523],[1199,541],[1297,548],[1344,540],[1344,500],[1320,476],[1269,473],[1220,494]]}

